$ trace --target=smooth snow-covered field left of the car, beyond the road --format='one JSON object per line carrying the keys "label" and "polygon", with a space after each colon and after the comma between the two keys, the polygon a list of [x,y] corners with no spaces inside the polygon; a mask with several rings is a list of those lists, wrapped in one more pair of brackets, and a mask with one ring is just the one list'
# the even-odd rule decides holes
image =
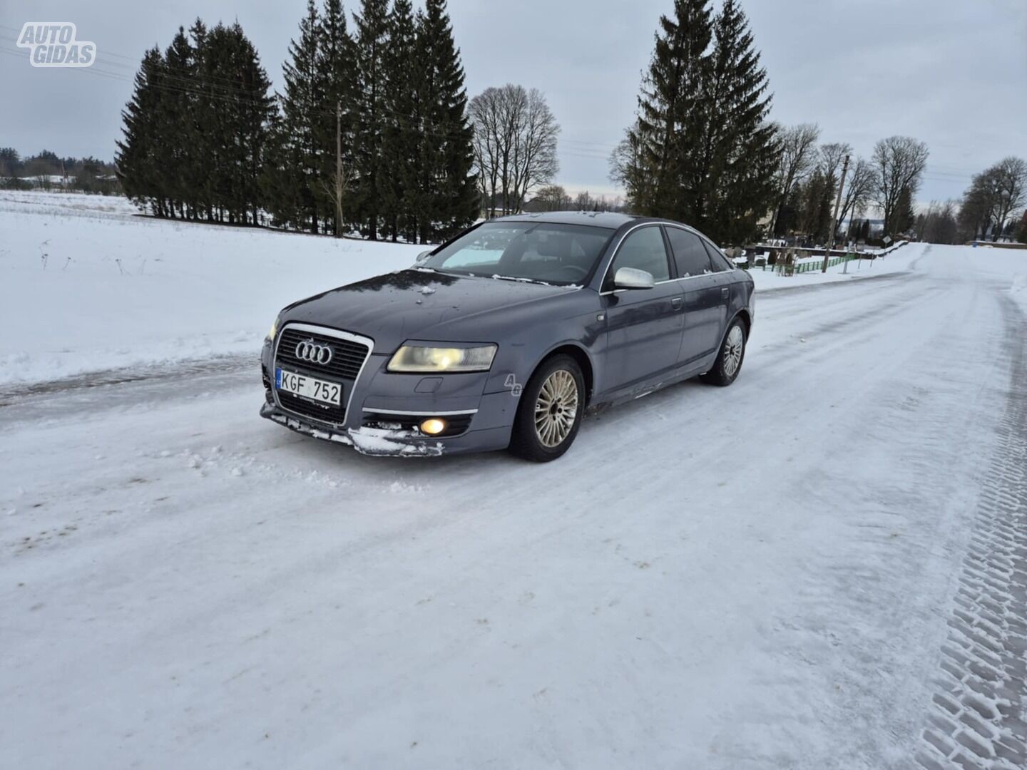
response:
{"label": "smooth snow-covered field left of the car, beyond the road", "polygon": [[[255,356],[275,313],[422,246],[158,222],[124,198],[0,193],[0,382]],[[10,332],[13,330],[13,333]]]}

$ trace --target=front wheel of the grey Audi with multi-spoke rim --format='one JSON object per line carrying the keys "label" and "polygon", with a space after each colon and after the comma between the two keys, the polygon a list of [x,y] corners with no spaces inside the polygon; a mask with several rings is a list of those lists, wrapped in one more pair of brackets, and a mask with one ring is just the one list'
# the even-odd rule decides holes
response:
{"label": "front wheel of the grey Audi with multi-spoke rim", "polygon": [[[546,402],[547,414],[540,411]],[[577,361],[564,354],[545,359],[521,393],[510,452],[537,463],[556,460],[574,442],[583,414],[584,376]]]}

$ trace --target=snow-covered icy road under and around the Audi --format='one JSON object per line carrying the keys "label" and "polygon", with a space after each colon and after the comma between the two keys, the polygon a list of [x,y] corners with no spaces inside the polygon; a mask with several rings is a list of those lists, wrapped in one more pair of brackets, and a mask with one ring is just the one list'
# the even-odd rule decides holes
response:
{"label": "snow-covered icy road under and around the Audi", "polygon": [[543,466],[298,436],[244,360],[0,394],[3,764],[1023,767],[1027,320],[980,258],[762,293],[734,386]]}

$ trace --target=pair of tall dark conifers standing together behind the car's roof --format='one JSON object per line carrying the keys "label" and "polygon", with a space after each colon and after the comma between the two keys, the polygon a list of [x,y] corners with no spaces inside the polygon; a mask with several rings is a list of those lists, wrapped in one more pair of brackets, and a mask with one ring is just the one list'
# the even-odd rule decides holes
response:
{"label": "pair of tall dark conifers standing together behind the car's roof", "polygon": [[718,240],[751,237],[774,197],[779,155],[767,89],[737,0],[725,0],[716,18],[710,0],[675,0],[673,17],[660,17],[629,134],[639,158],[623,181],[632,207]]}

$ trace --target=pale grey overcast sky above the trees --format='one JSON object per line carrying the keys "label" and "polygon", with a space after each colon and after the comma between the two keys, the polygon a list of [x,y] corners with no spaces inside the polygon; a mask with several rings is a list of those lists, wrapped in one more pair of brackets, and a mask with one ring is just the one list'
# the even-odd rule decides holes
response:
{"label": "pale grey overcast sky above the trees", "polygon": [[[719,5],[719,0],[716,0]],[[417,0],[415,0],[415,4]],[[0,146],[110,159],[143,51],[179,25],[237,20],[275,87],[305,0],[3,0]],[[905,133],[930,148],[920,201],[1027,156],[1027,0],[743,0],[774,92],[772,118],[815,122],[869,155]],[[356,3],[346,4],[347,10]],[[563,126],[558,182],[612,191],[606,157],[631,123],[653,33],[672,0],[450,0],[468,95],[542,89]],[[90,69],[38,69],[14,47],[25,22],[74,22]]]}

